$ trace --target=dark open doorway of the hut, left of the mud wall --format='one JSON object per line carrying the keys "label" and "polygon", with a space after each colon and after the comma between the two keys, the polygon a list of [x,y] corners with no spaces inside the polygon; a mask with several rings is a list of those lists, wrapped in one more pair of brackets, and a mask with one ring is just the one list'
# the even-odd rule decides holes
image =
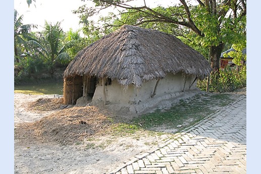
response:
{"label": "dark open doorway of the hut, left of the mud wall", "polygon": [[84,76],[83,77],[83,96],[90,97],[92,99],[98,79],[95,76]]}

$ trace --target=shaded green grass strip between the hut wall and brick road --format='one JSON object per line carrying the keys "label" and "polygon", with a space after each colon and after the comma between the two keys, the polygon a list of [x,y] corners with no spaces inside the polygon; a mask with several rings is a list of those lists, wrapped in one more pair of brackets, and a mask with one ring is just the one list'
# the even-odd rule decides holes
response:
{"label": "shaded green grass strip between the hut wall and brick road", "polygon": [[[113,127],[116,135],[134,134],[138,130],[156,131],[157,128],[175,129],[176,132],[201,121],[216,111],[216,106],[223,107],[232,99],[229,94],[198,94],[189,100],[180,100],[166,111],[156,110],[143,114],[128,123]],[[181,128],[177,128],[182,125]]]}

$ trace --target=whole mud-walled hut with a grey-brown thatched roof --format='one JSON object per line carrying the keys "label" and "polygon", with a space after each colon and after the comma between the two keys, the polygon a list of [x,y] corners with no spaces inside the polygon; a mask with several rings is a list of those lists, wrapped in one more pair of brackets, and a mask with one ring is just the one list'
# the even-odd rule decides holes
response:
{"label": "whole mud-walled hut with a grey-brown thatched roof", "polygon": [[64,72],[64,102],[78,98],[139,111],[194,89],[211,67],[173,35],[124,25],[81,50]]}

